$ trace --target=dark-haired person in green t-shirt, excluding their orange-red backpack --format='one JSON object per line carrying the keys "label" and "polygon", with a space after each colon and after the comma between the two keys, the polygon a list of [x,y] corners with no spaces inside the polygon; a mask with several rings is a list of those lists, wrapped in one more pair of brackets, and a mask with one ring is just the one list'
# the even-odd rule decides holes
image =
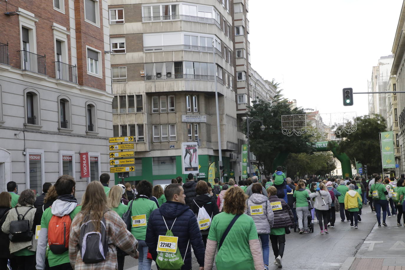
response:
{"label": "dark-haired person in green t-shirt, excluding their orange-red backpack", "polygon": [[[75,179],[69,175],[62,175],[55,183],[55,190],[58,198],[53,202],[52,206],[47,208],[41,218],[41,230],[39,233],[38,244],[36,246],[36,269],[45,269],[45,254],[48,254],[49,267],[58,266],[58,269],[72,269],[69,260],[69,251],[66,249],[62,254],[55,254],[49,248],[48,233],[51,233],[54,228],[49,227],[49,221],[52,216],[63,217],[69,215],[73,220],[75,215],[80,212],[81,206],[77,205],[75,198]],[[47,251],[47,252],[46,252]]]}

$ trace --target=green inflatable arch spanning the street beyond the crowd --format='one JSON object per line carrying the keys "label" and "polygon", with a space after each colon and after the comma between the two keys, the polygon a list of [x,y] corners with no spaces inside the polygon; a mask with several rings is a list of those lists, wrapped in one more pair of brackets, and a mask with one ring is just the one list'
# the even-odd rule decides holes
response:
{"label": "green inflatable arch spanning the street beyond the crowd", "polygon": [[[332,151],[333,155],[339,159],[340,163],[342,164],[342,174],[343,177],[350,177],[352,178],[352,165],[350,164],[350,159],[345,153],[338,153],[337,152],[337,142],[330,141],[330,142],[315,142],[315,151],[314,152],[322,152],[322,151]],[[299,151],[295,153],[300,153]],[[281,152],[279,153],[273,162],[273,170],[276,170],[277,166],[280,166],[284,163],[284,161],[288,157],[288,152]]]}

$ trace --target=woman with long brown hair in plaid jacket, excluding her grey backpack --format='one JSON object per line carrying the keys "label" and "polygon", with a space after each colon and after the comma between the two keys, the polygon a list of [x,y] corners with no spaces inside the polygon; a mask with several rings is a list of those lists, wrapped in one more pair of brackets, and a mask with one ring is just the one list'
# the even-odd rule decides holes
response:
{"label": "woman with long brown hair in plaid jacket, excluding her grey backpack", "polygon": [[[110,191],[111,192],[111,191]],[[120,190],[122,194],[122,190]],[[105,259],[94,264],[84,263],[82,260],[82,247],[80,246],[80,228],[86,221],[92,221],[95,231],[102,232],[101,221],[105,220],[105,233],[108,244],[108,251]],[[73,269],[117,269],[117,250],[122,249],[128,255],[138,258],[136,251],[137,241],[126,229],[126,224],[115,212],[110,211],[107,204],[107,197],[104,188],[98,181],[87,185],[82,201],[81,211],[72,220],[69,238],[69,259]]]}

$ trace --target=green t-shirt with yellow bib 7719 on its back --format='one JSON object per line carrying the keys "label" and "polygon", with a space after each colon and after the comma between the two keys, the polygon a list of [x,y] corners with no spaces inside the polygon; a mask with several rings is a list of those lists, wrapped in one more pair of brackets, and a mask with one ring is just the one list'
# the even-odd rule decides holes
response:
{"label": "green t-shirt with yellow bib 7719 on its back", "polygon": [[[128,202],[128,207],[130,206],[132,200]],[[143,222],[141,219],[141,224],[145,224],[139,227],[132,227],[131,234],[138,240],[145,240],[146,236],[146,226],[148,224],[149,215],[153,210],[157,209],[156,202],[149,200],[149,198],[138,198],[132,203],[132,216],[145,215],[146,220]]]}

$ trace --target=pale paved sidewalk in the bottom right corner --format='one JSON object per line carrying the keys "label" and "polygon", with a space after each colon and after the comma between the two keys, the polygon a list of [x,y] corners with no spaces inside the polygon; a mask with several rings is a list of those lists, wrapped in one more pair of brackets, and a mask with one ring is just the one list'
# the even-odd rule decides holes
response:
{"label": "pale paved sidewalk in the bottom right corner", "polygon": [[348,257],[340,270],[405,270],[405,227],[396,226],[396,216],[386,219],[388,227],[378,227],[374,218],[376,223],[355,257]]}

